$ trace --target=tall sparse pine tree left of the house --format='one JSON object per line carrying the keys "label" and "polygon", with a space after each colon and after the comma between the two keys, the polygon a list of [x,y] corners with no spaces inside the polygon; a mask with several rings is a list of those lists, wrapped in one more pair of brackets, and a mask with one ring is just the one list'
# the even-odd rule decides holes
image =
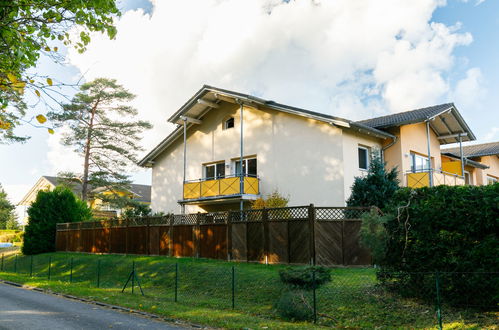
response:
{"label": "tall sparse pine tree left of the house", "polygon": [[137,110],[128,104],[135,96],[116,80],[99,78],[80,90],[61,112],[50,112],[49,118],[57,126],[69,128],[62,143],[74,147],[84,158],[79,177],[82,200],[88,199],[90,185],[93,190],[103,187],[118,197],[130,184],[123,173],[136,164],[137,153],[143,150],[140,134],[152,125],[134,120]]}

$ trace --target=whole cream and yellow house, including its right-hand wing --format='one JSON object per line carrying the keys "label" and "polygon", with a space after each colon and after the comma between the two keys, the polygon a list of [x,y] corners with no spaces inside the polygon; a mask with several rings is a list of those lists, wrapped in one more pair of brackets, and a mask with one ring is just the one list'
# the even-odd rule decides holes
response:
{"label": "whole cream and yellow house, including its right-hand wing", "polygon": [[475,140],[453,104],[351,121],[207,85],[168,120],[176,128],[139,165],[152,168],[153,211],[174,213],[245,208],[274,190],[291,205],[344,205],[374,152],[403,185],[464,184],[440,146]]}

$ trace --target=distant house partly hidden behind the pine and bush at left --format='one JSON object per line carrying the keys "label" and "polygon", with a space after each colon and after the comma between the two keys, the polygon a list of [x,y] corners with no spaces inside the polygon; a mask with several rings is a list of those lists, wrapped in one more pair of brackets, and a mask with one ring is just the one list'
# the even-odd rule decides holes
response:
{"label": "distant house partly hidden behind the pine and bush at left", "polygon": [[[31,203],[35,201],[38,191],[52,190],[57,185],[60,185],[62,183],[64,183],[64,181],[61,178],[55,176],[42,176],[40,179],[38,179],[35,185],[28,191],[28,193],[23,197],[23,199],[18,203],[18,205],[24,206],[26,211],[27,207],[30,206]],[[81,195],[81,184],[74,184],[71,186],[71,189],[73,190],[75,195],[77,196]],[[97,196],[89,199],[88,201],[89,206],[92,208],[92,210],[94,210],[94,214],[97,213],[104,217],[111,215],[115,216],[117,213],[119,214],[121,210],[118,210],[109,205],[108,203],[103,202],[102,199],[98,197],[98,194],[110,194],[111,192],[106,191],[106,189],[102,187],[96,189],[92,189],[90,187],[90,192],[93,193],[95,196]],[[120,195],[127,194],[129,195],[130,198],[139,203],[147,205],[151,203],[151,186],[148,185],[131,184],[129,191],[118,192],[118,193]],[[25,212],[25,217],[26,216],[27,215]]]}

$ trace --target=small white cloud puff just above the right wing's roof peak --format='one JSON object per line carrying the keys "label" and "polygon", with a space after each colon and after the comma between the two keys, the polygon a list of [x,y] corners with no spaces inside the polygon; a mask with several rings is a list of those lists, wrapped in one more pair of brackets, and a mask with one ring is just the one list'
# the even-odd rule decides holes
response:
{"label": "small white cloud puff just above the right wing's roof peak", "polygon": [[466,77],[457,82],[453,99],[458,106],[473,107],[485,93],[482,72],[479,68],[471,68],[466,72]]}

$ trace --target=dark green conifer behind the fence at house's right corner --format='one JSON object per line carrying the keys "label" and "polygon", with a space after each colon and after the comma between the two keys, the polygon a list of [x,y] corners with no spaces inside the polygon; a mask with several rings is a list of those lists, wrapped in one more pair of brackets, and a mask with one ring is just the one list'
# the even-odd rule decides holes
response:
{"label": "dark green conifer behind the fence at house's right corner", "polygon": [[383,209],[399,189],[397,175],[397,168],[387,171],[381,157],[373,153],[367,175],[355,178],[347,206],[377,206]]}

